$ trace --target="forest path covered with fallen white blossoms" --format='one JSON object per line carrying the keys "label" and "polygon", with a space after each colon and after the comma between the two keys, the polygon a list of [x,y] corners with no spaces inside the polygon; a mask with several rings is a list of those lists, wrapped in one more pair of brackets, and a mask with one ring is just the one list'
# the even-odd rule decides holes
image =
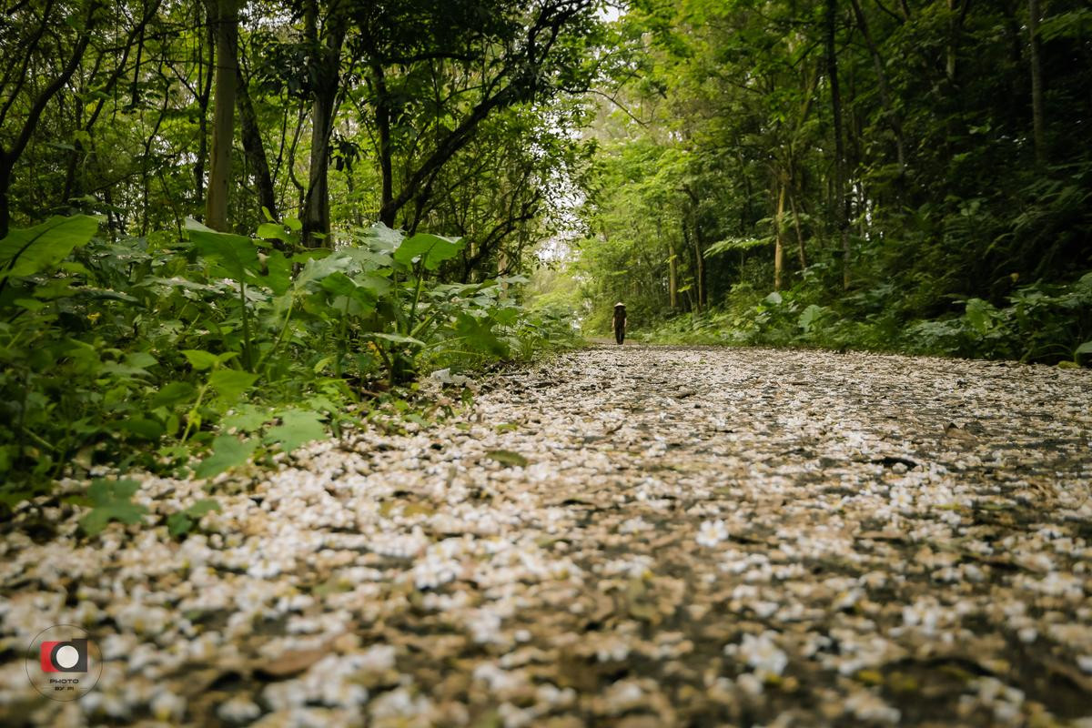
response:
{"label": "forest path covered with fallen white blossoms", "polygon": [[[1090,371],[601,346],[405,427],[180,541],[24,510],[62,526],[0,546],[0,723],[1092,726]],[[105,658],[69,703],[58,623]]]}

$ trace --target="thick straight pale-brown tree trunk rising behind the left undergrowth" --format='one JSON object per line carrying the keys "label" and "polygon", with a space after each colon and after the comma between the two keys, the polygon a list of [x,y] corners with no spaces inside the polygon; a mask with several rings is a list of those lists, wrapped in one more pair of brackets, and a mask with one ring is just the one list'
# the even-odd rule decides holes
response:
{"label": "thick straight pale-brown tree trunk rising behind the left undergrowth", "polygon": [[[213,102],[212,155],[209,160],[209,193],[205,198],[205,225],[227,229],[228,184],[232,179],[232,141],[235,136],[236,43],[239,17],[236,0],[209,0],[215,3],[216,97]],[[210,15],[213,15],[210,9]]]}

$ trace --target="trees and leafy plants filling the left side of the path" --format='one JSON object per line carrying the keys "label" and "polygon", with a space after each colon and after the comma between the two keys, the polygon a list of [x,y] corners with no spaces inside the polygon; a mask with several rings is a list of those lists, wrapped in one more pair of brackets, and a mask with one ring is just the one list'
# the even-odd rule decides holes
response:
{"label": "trees and leafy plants filling the left side of the path", "polygon": [[[12,5],[0,503],[424,423],[429,370],[572,343],[520,303],[594,148],[603,33],[592,0]],[[96,486],[84,530],[131,494]]]}

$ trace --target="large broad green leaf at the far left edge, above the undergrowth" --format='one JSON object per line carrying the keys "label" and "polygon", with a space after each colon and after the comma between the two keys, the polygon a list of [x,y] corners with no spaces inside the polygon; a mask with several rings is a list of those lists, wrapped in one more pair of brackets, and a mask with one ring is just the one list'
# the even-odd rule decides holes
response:
{"label": "large broad green leaf at the far left edge, above the undergrowth", "polygon": [[41,225],[14,229],[0,240],[0,281],[51,270],[98,231],[98,219],[88,215],[50,217]]}

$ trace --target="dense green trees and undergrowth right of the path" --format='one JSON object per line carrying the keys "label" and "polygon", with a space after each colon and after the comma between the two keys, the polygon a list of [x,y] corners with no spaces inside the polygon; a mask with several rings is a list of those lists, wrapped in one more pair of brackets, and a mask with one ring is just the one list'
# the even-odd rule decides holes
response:
{"label": "dense green trees and undergrowth right of the path", "polygon": [[640,0],[618,25],[593,329],[624,300],[664,341],[1082,356],[1085,3]]}

